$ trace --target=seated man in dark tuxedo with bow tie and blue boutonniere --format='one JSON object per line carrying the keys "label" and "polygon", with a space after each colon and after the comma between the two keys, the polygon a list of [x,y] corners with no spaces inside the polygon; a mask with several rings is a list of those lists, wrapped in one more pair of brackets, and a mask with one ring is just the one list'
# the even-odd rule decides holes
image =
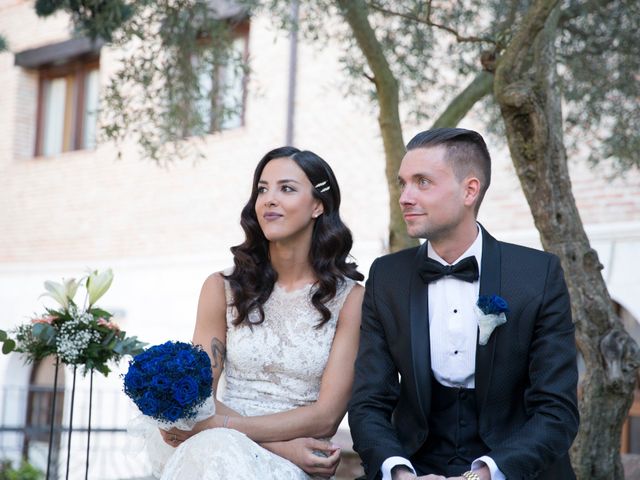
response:
{"label": "seated man in dark tuxedo with bow tie and blue boutonniere", "polygon": [[[427,241],[377,259],[367,280],[349,406],[367,479],[575,478],[563,272],[554,255],[499,242],[476,222],[490,177],[476,132],[429,130],[407,145],[400,206],[409,235]],[[478,335],[476,302],[494,295],[506,323],[487,316]]]}

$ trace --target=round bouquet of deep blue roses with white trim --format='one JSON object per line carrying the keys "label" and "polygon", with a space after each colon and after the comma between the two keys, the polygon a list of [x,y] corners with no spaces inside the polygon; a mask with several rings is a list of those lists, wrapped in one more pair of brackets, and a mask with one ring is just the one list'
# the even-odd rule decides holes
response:
{"label": "round bouquet of deep blue roses with white trim", "polygon": [[209,355],[199,346],[166,342],[139,353],[124,375],[124,392],[159,427],[191,429],[214,413]]}

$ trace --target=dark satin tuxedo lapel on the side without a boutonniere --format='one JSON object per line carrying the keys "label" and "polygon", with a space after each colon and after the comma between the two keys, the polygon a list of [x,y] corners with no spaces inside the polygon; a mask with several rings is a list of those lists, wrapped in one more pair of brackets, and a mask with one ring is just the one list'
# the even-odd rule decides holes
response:
{"label": "dark satin tuxedo lapel on the side without a boutonniere", "polygon": [[429,297],[428,286],[418,275],[418,265],[427,258],[427,243],[423,243],[416,252],[414,268],[411,273],[411,294],[409,316],[411,321],[411,356],[413,376],[416,383],[416,395],[422,406],[422,415],[426,414],[431,403],[431,348],[429,340]]}

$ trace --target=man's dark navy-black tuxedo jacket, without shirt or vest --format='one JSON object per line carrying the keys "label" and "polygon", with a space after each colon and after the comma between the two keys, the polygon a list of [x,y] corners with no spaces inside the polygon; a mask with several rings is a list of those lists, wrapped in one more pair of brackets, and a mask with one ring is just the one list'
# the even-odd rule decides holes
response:
{"label": "man's dark navy-black tuxedo jacket, without shirt or vest", "polygon": [[[482,229],[480,295],[500,295],[507,323],[477,346],[480,437],[509,480],[574,478],[577,368],[569,294],[554,255],[498,242]],[[429,433],[426,243],[378,258],[362,307],[349,425],[368,479],[391,456],[411,456]]]}

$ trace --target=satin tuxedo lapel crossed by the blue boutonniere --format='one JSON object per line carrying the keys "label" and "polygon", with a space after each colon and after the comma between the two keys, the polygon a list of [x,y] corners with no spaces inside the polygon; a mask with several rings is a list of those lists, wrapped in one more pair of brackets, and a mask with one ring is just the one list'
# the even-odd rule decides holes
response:
{"label": "satin tuxedo lapel crossed by the blue boutonniere", "polygon": [[[483,227],[481,227],[481,230],[480,295],[500,295],[500,245]],[[486,345],[476,345],[475,388],[479,412],[482,412],[489,384],[491,383],[493,355],[496,349],[498,330],[491,334]]]}

